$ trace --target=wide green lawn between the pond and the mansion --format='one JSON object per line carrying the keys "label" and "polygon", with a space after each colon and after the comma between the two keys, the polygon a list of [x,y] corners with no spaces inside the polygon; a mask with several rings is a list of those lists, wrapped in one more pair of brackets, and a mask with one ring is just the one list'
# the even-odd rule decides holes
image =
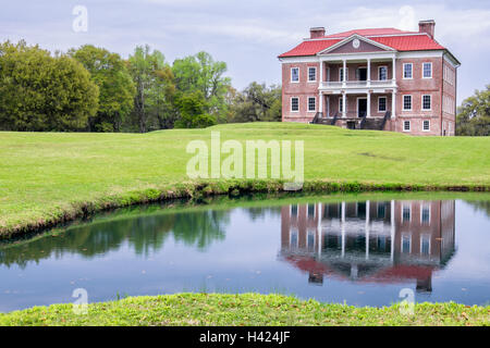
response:
{"label": "wide green lawn between the pond and the mansion", "polygon": [[222,141],[304,140],[307,182],[490,187],[488,137],[411,137],[292,123],[149,134],[0,133],[0,236],[88,209],[183,195],[194,187],[185,175],[192,157],[186,145],[210,142],[211,130],[220,130]]}

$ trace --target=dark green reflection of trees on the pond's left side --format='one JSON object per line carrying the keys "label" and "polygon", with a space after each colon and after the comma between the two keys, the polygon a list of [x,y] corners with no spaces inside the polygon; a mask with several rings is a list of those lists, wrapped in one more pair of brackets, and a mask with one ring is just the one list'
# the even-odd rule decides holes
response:
{"label": "dark green reflection of trees on the pond's left side", "polygon": [[86,258],[119,249],[124,243],[137,254],[161,249],[169,236],[197,249],[205,249],[215,240],[223,240],[229,211],[183,212],[164,215],[100,222],[70,228],[59,236],[46,236],[20,246],[0,249],[0,264],[36,263],[51,256],[61,258],[76,253]]}

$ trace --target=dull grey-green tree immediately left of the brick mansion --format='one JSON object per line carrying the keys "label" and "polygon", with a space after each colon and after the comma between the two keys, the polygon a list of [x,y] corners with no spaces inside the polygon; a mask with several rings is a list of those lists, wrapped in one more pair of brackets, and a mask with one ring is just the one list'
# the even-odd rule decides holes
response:
{"label": "dull grey-green tree immediately left of the brick mansion", "polygon": [[230,122],[281,121],[281,86],[253,82],[232,101]]}

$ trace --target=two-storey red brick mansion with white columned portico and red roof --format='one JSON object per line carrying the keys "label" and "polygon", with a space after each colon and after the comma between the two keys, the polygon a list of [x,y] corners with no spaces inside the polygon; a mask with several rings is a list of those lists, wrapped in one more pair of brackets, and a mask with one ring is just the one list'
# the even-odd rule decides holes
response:
{"label": "two-storey red brick mansion with white columned portico and red roof", "polygon": [[279,55],[282,121],[453,136],[460,62],[434,27],[430,20],[418,32],[311,28]]}

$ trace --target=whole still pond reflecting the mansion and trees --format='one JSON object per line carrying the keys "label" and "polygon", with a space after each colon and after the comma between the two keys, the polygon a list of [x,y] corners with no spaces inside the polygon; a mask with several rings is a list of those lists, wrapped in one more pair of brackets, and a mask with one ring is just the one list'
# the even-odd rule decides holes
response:
{"label": "whole still pond reflecting the mansion and trees", "polygon": [[[490,200],[378,195],[137,207],[0,245],[0,311],[125,296],[490,300]],[[485,196],[488,198],[488,196]]]}

